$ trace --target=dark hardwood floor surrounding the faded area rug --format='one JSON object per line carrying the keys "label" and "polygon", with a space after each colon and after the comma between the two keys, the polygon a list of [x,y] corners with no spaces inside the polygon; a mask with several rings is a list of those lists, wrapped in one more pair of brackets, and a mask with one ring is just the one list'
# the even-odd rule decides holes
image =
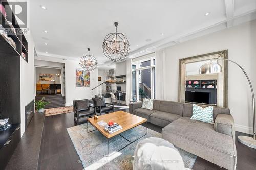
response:
{"label": "dark hardwood floor surrounding the faded area rug", "polygon": [[[125,111],[125,110],[124,110]],[[127,111],[127,110],[126,110]],[[83,119],[82,123],[86,123]],[[44,130],[39,155],[38,169],[83,169],[79,162],[74,145],[68,135],[66,128],[76,126],[73,120],[73,113],[59,114],[45,117]],[[161,133],[162,128],[148,123],[148,128]],[[242,133],[237,132],[237,135]],[[244,135],[244,134],[243,134]],[[237,147],[237,169],[256,169],[256,149],[246,147],[236,139]],[[200,157],[194,164],[193,169],[224,169],[212,164]]]}

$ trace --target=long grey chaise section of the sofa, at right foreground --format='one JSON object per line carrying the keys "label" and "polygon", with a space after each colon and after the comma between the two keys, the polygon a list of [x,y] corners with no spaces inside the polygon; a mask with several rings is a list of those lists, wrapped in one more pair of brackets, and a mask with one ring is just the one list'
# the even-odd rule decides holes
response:
{"label": "long grey chaise section of the sofa, at right foreground", "polygon": [[181,117],[162,129],[163,139],[227,169],[234,169],[236,147],[231,136],[218,133],[214,125]]}

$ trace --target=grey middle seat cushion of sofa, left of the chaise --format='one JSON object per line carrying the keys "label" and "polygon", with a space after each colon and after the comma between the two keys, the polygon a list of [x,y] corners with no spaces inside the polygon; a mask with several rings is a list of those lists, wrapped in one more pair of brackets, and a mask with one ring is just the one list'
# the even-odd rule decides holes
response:
{"label": "grey middle seat cushion of sofa, left of the chaise", "polygon": [[178,114],[156,111],[155,113],[152,113],[150,115],[150,123],[165,127],[166,125],[173,122],[174,120],[177,120],[180,117],[181,116]]}

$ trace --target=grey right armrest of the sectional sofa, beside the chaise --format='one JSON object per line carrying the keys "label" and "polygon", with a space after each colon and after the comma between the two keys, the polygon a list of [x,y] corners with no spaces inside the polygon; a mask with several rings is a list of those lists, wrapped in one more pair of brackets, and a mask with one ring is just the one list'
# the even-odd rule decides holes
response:
{"label": "grey right armrest of the sectional sofa, beside the chaise", "polygon": [[218,114],[214,122],[214,129],[216,132],[235,138],[234,119],[231,114]]}

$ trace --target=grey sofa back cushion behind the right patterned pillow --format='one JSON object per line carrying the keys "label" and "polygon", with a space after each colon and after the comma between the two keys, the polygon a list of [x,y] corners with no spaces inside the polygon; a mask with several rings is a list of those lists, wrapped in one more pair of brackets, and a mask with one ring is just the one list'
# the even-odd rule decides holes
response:
{"label": "grey sofa back cushion behind the right patterned pillow", "polygon": [[[198,105],[202,108],[207,107],[206,105]],[[192,116],[192,110],[193,110],[193,104],[184,103],[184,109],[183,109],[183,117],[191,117]],[[228,108],[224,107],[214,107],[214,121],[216,119],[216,116],[218,114],[230,114],[230,110]]]}

